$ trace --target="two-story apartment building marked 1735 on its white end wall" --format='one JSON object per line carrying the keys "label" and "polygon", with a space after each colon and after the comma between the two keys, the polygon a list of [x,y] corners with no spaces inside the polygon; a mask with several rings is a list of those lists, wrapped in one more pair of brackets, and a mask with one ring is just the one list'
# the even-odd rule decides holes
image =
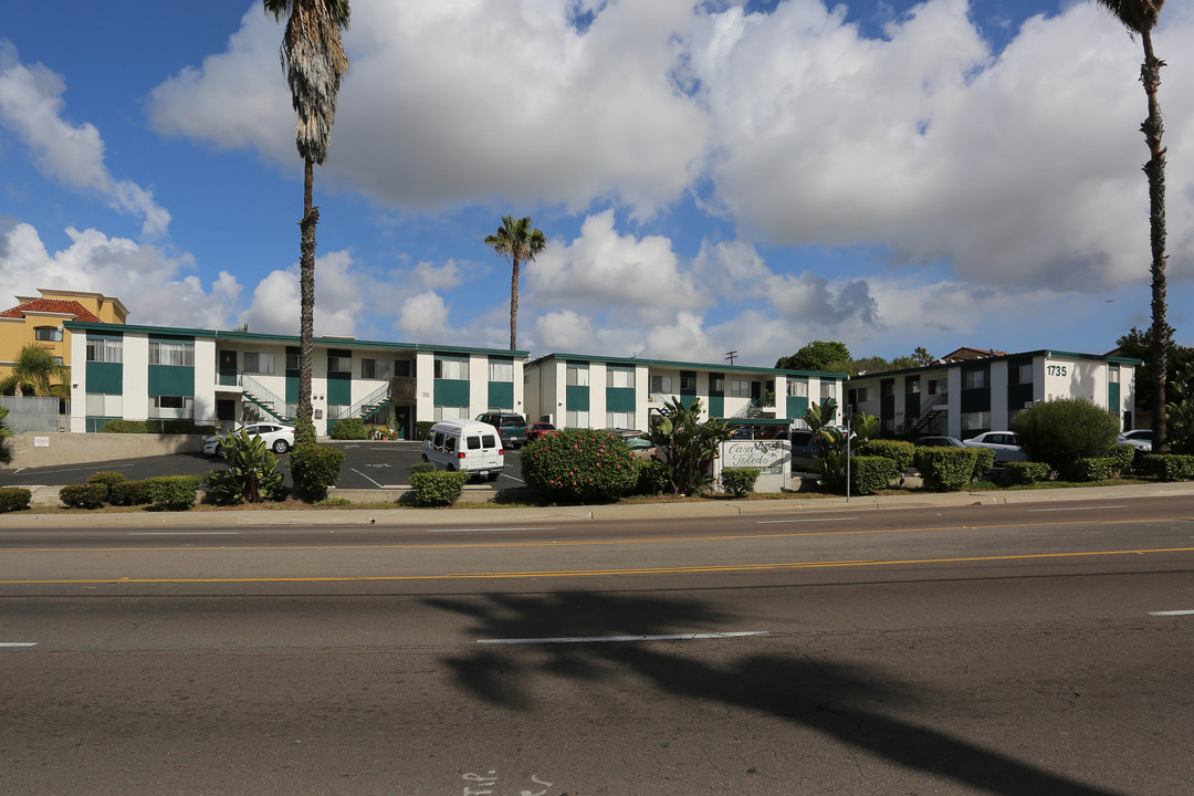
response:
{"label": "two-story apartment building marked 1735 on its white end wall", "polygon": [[857,376],[847,403],[876,415],[880,432],[968,439],[1004,430],[1038,401],[1082,399],[1133,428],[1139,359],[1069,351],[1001,353],[923,368]]}

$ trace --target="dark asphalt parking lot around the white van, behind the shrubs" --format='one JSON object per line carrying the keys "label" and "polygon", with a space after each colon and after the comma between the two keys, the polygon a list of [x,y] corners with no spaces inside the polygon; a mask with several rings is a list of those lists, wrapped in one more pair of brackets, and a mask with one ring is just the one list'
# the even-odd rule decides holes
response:
{"label": "dark asphalt parking lot around the white van, behind the shrubs", "polygon": [[[326,443],[344,451],[338,487],[344,489],[380,489],[410,485],[411,465],[420,459],[420,443],[417,442],[338,442]],[[289,453],[279,456],[285,483],[290,486],[290,471],[285,467]],[[507,450],[506,467],[494,489],[521,487],[521,452]],[[0,470],[0,487],[66,486],[82,483],[96,473],[115,470],[129,480],[137,481],[155,475],[203,475],[208,470],[223,467],[223,459],[204,453],[174,453],[171,456],[146,456],[110,462],[66,464],[61,467]],[[488,482],[487,482],[488,483]]]}

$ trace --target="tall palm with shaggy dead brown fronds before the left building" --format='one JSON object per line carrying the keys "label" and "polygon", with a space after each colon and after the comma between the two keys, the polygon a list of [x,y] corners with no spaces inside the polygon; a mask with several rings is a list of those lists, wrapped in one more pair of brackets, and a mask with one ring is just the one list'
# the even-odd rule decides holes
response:
{"label": "tall palm with shaggy dead brown fronds before the left building", "polygon": [[315,163],[327,160],[336,121],[336,98],[349,72],[340,31],[349,26],[349,0],[263,0],[276,20],[289,14],[279,57],[290,84],[290,99],[298,113],[295,143],[303,159],[303,214],[298,260],[298,428],[295,444],[315,442],[310,421],[310,362],[315,327],[315,224],[319,208],[312,204]]}

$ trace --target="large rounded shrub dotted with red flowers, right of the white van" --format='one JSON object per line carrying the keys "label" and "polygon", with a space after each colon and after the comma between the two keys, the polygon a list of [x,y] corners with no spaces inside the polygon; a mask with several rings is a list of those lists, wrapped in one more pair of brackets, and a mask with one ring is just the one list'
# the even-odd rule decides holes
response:
{"label": "large rounded shrub dotted with red flowers, right of the white van", "polygon": [[554,502],[609,502],[638,485],[634,455],[621,437],[597,428],[561,428],[523,448],[527,486]]}

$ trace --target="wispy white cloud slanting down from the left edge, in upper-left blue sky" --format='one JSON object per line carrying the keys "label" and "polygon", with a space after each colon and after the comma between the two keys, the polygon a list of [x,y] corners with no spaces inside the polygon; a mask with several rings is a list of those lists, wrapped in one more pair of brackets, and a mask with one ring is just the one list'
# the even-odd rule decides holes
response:
{"label": "wispy white cloud slanting down from the left edge, in upper-left blue sky", "polygon": [[23,64],[17,49],[0,39],[0,123],[33,152],[42,173],[74,189],[97,191],[116,210],[142,217],[142,235],[165,235],[170,212],[154,202],[152,191],[109,173],[99,130],[62,118],[63,93],[60,75],[41,64]]}

